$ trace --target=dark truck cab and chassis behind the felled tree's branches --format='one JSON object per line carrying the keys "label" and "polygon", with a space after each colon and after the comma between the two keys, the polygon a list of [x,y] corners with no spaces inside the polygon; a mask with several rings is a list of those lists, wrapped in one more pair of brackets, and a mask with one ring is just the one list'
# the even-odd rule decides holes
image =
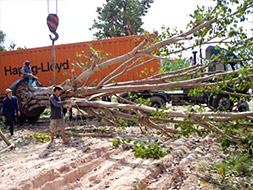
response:
{"label": "dark truck cab and chassis behind the felled tree's branches", "polygon": [[[206,58],[210,59],[212,55],[217,55],[220,53],[221,49],[216,49],[215,46],[208,46],[206,48]],[[192,57],[192,65],[195,65],[197,63],[196,58],[196,51],[193,52]],[[228,57],[237,58],[234,53],[229,53],[227,55]],[[200,57],[201,50],[200,50]],[[238,70],[243,65],[242,62],[229,62],[228,64],[222,64],[222,63],[214,63],[211,66],[208,67],[207,72],[214,72],[214,71],[232,71],[232,70]],[[165,106],[166,103],[171,103],[172,106],[182,106],[186,104],[195,104],[195,105],[201,105],[206,104],[209,108],[212,110],[218,109],[220,111],[225,110],[231,110],[234,103],[230,100],[229,95],[225,94],[217,94],[214,95],[212,93],[204,93],[204,95],[201,96],[189,96],[190,88],[183,88],[181,90],[175,90],[175,91],[138,91],[138,92],[131,92],[131,93],[124,93],[121,95],[121,97],[126,98],[128,100],[134,101],[137,98],[143,98],[143,99],[150,99],[151,106],[161,108],[162,106]],[[235,90],[227,86],[225,89],[227,92],[234,93]],[[239,93],[246,94],[247,90],[244,91],[237,91]]]}

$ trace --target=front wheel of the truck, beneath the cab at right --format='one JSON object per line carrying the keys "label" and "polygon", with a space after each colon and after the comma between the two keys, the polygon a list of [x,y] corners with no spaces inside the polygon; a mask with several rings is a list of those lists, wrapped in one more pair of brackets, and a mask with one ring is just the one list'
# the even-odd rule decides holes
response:
{"label": "front wheel of the truck, beneath the cab at right", "polygon": [[220,111],[231,110],[233,102],[229,100],[229,96],[218,94],[216,98],[212,100],[212,106],[214,109],[219,109]]}

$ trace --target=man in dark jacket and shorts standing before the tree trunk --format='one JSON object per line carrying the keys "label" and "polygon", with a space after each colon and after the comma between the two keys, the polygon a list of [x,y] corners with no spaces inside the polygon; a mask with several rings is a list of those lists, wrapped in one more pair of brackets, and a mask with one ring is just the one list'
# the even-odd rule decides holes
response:
{"label": "man in dark jacket and shorts standing before the tree trunk", "polygon": [[61,101],[60,94],[62,93],[61,86],[54,87],[54,93],[50,96],[50,131],[51,131],[51,142],[48,147],[50,147],[54,142],[54,133],[60,129],[63,143],[67,144],[69,141],[66,139],[64,130],[64,119],[62,107],[66,104],[70,104],[70,101]]}

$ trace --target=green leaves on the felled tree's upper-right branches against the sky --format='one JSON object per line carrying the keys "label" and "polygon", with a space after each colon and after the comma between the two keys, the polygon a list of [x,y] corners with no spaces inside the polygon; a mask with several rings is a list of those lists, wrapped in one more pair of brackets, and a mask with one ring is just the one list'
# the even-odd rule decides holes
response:
{"label": "green leaves on the felled tree's upper-right branches against the sky", "polygon": [[[249,20],[252,15],[252,10],[250,10],[249,7],[252,6],[250,5],[252,1],[214,1],[216,1],[216,3],[214,3],[215,6],[197,6],[192,14],[190,14],[191,20],[187,25],[188,29],[195,28],[200,24],[211,21],[212,19],[217,19],[217,22],[213,23],[212,25],[207,25],[205,28],[194,33],[194,39],[191,40],[192,48],[198,47],[211,40],[215,41],[214,39],[217,39],[216,44],[223,47],[225,46],[225,48],[228,50],[228,54],[236,53],[239,59],[243,59],[245,61],[252,60],[252,39],[247,41],[245,40],[247,39],[247,29],[242,27],[242,23],[245,25],[251,24]],[[232,14],[233,12],[236,13]],[[160,40],[173,38],[176,35],[183,33],[183,31],[177,28],[162,27],[162,29],[163,32],[160,35]],[[222,43],[219,43],[219,41],[222,41]],[[240,44],[240,47],[238,44]],[[182,56],[180,53],[187,48],[188,45],[185,45],[182,41],[178,41],[163,47],[157,53],[159,56],[170,56],[177,53],[180,57]],[[219,60],[217,61],[219,62]]]}

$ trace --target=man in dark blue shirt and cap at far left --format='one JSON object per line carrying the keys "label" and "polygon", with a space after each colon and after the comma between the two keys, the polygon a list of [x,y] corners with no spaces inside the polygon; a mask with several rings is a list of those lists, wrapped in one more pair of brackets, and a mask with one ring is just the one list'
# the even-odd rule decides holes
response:
{"label": "man in dark blue shirt and cap at far left", "polygon": [[14,121],[16,115],[20,116],[18,100],[16,96],[12,96],[11,89],[7,88],[5,90],[6,97],[3,99],[2,103],[2,119],[5,120],[5,124],[9,126],[11,136],[14,133]]}

